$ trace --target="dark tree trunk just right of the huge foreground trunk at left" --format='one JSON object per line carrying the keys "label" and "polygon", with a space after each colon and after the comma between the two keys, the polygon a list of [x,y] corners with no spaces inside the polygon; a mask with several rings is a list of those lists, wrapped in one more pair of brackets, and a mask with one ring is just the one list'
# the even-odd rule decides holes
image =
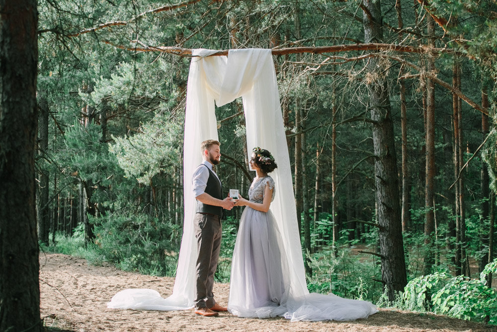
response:
{"label": "dark tree trunk just right of the huge foreground trunk at left", "polygon": [[[39,111],[39,121],[38,121],[38,155],[40,156],[40,164],[44,164],[41,158],[45,158],[45,154],[48,151],[48,102],[45,97],[41,97],[38,100],[38,111]],[[40,167],[41,168],[41,167]],[[48,205],[49,200],[49,179],[48,171],[41,168],[38,173],[38,240],[45,245],[48,245],[49,238],[48,233],[50,230],[50,207]]]}

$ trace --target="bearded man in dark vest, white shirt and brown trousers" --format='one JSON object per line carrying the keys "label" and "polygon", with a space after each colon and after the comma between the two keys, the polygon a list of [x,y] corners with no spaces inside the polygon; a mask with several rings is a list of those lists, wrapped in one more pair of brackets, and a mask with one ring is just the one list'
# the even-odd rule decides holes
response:
{"label": "bearded man in dark vest, white shirt and brown trousers", "polygon": [[234,203],[230,197],[223,199],[222,185],[213,166],[221,160],[220,143],[213,139],[202,142],[204,161],[193,172],[193,192],[197,200],[193,227],[197,238],[198,258],[196,264],[195,314],[217,316],[227,311],[214,300],[212,287],[221,248],[221,217],[223,209],[231,210]]}

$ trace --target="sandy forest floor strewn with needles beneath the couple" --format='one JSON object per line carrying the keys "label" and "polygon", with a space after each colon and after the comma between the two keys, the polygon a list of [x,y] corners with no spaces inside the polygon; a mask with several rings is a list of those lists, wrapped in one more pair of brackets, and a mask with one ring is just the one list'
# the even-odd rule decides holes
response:
{"label": "sandy forest floor strewn with needles beneath the couple", "polygon": [[[380,309],[353,322],[296,322],[284,318],[245,319],[230,313],[204,318],[185,311],[107,309],[107,302],[126,288],[172,293],[174,278],[124,272],[111,265],[91,266],[82,258],[40,255],[41,316],[45,326],[69,331],[497,331],[497,327],[445,316]],[[216,298],[227,305],[229,284],[215,284]]]}

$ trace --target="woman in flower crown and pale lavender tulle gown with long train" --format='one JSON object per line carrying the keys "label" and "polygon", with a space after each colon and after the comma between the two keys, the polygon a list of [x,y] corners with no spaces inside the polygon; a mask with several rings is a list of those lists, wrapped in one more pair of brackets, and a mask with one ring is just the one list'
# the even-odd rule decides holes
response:
{"label": "woman in flower crown and pale lavender tulle gown with long train", "polygon": [[248,198],[236,201],[246,206],[233,253],[228,311],[239,317],[283,316],[292,321],[355,320],[378,310],[367,301],[343,299],[336,295],[291,292],[290,266],[278,226],[269,207],[275,183],[268,175],[277,168],[267,150],[253,148],[249,161],[255,170]]}

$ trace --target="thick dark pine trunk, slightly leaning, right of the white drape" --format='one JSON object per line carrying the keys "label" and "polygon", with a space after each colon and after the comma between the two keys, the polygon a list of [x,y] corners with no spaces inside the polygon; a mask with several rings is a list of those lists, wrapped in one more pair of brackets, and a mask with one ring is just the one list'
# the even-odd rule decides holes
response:
{"label": "thick dark pine trunk, slightly leaning, right of the white drape", "polygon": [[[380,1],[364,0],[364,40],[381,42],[382,14]],[[390,301],[407,284],[404,243],[402,239],[401,211],[399,204],[399,179],[395,136],[390,110],[390,99],[386,78],[377,59],[368,60],[369,72],[378,76],[371,83],[368,108],[373,121],[373,148],[375,153],[375,190],[378,205],[379,242],[382,281]],[[373,75],[373,76],[375,76]]]}

